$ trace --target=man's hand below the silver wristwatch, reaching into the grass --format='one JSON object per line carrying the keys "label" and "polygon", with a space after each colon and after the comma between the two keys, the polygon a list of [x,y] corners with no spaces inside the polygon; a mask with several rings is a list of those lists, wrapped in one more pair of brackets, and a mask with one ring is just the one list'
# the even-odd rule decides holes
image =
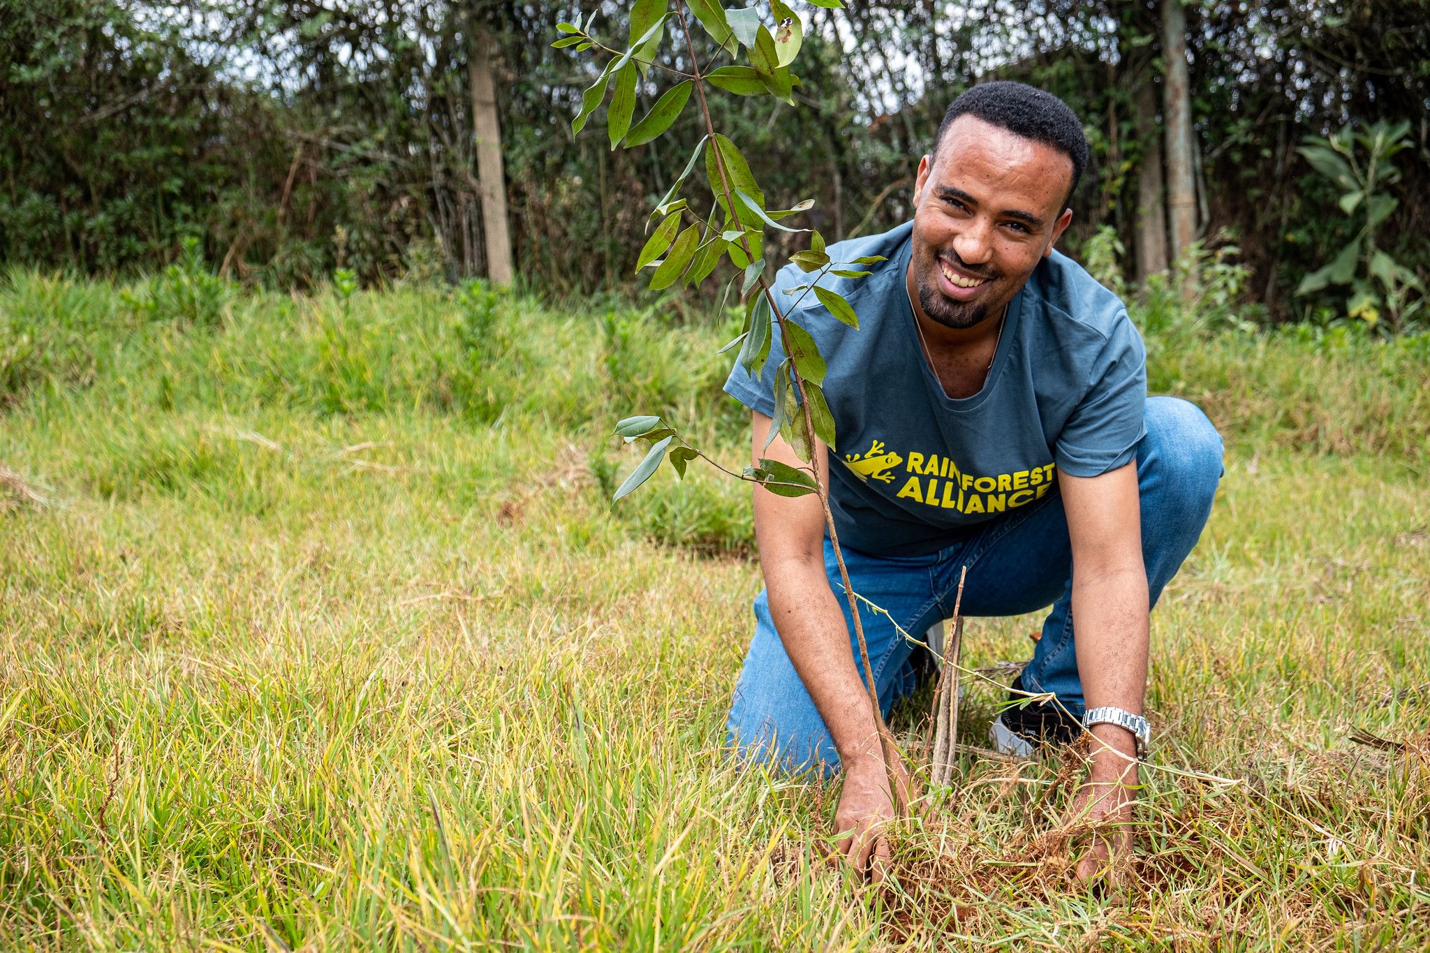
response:
{"label": "man's hand below the silver wristwatch, reaching into the grass", "polygon": [[1091,734],[1087,782],[1072,797],[1067,814],[1070,824],[1094,824],[1093,849],[1074,872],[1078,880],[1091,880],[1104,870],[1115,873],[1133,856],[1137,742],[1131,732],[1113,724],[1095,724]]}

